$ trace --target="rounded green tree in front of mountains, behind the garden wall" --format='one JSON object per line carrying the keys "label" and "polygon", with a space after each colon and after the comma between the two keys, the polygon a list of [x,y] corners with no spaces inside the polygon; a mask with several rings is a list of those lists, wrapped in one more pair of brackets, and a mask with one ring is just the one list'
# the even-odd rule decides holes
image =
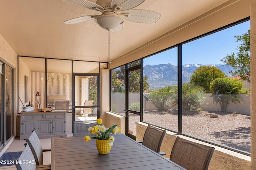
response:
{"label": "rounded green tree in front of mountains, behind the garden wall", "polygon": [[210,93],[210,82],[217,78],[225,77],[225,73],[215,66],[205,65],[198,67],[190,77],[190,83],[204,87]]}

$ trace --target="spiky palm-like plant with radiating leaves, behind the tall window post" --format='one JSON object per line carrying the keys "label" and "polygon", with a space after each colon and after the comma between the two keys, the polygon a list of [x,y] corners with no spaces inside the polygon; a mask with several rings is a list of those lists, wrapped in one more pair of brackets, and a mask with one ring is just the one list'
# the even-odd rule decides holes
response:
{"label": "spiky palm-like plant with radiating leaves, behind the tall window post", "polygon": [[[201,110],[201,105],[205,103],[206,96],[204,88],[194,83],[182,83],[182,109]],[[172,96],[172,106],[178,105],[178,92]]]}

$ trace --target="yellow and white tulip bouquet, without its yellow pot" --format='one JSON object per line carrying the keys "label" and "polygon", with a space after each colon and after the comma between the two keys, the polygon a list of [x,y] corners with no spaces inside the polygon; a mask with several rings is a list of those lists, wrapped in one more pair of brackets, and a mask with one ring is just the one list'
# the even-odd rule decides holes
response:
{"label": "yellow and white tulip bouquet, without its yellow pot", "polygon": [[104,125],[102,125],[102,119],[97,119],[96,121],[98,125],[88,128],[88,131],[95,134],[95,137],[85,136],[85,142],[88,142],[91,139],[108,140],[108,144],[113,146],[115,138],[112,136],[112,134],[121,132],[121,129],[116,127],[117,125],[113,125],[111,128],[106,128]]}

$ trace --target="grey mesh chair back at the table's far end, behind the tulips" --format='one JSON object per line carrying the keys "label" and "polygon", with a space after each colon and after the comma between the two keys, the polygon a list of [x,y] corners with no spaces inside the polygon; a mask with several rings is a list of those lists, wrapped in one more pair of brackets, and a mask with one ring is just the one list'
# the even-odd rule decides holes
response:
{"label": "grey mesh chair back at the table's far end, behind the tulips", "polygon": [[96,125],[96,121],[74,121],[74,136],[90,136],[92,132],[88,132],[88,127]]}

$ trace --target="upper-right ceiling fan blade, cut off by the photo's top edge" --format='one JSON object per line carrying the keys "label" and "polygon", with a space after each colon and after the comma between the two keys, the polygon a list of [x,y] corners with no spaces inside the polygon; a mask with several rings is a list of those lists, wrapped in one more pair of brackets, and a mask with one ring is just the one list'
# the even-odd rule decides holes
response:
{"label": "upper-right ceiling fan blade, cut off by the photo's top edge", "polygon": [[144,0],[112,0],[110,2],[110,7],[115,8],[115,6],[121,7],[116,8],[116,10],[124,11],[124,10],[130,10],[132,8],[135,8],[136,6],[140,5]]}

